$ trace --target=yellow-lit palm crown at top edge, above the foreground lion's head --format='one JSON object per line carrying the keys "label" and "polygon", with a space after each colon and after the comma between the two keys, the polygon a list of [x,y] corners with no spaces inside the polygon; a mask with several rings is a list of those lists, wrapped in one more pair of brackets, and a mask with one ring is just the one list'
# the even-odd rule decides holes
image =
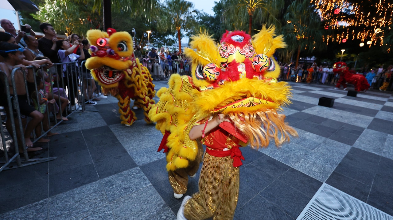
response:
{"label": "yellow-lit palm crown at top edge, above the foreground lion's head", "polygon": [[283,0],[222,0],[225,5],[222,18],[235,29],[246,29],[248,23],[248,34],[252,33],[252,24],[268,23],[276,27],[281,24],[277,20]]}

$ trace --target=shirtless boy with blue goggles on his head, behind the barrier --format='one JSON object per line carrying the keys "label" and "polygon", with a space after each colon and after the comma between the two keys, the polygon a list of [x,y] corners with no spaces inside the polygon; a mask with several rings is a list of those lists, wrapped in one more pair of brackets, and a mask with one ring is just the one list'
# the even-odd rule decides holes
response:
{"label": "shirtless boy with blue goggles on his head, behind the barrier", "polygon": [[[34,82],[33,70],[29,69],[28,71],[26,71],[26,66],[22,65],[25,56],[23,55],[23,49],[20,49],[18,45],[6,43],[6,42],[0,42],[0,49],[1,49],[0,56],[4,58],[4,62],[0,63],[0,70],[5,72],[7,75],[7,80],[10,90],[9,92],[11,94],[11,97],[15,97],[15,96],[18,97],[20,114],[27,115],[32,118],[31,121],[27,123],[24,134],[23,131],[22,132],[19,131],[18,120],[15,120],[15,128],[17,128],[16,130],[17,130],[18,141],[20,141],[20,143],[23,143],[24,141],[24,143],[26,144],[25,147],[27,147],[27,151],[42,150],[42,148],[38,148],[38,147],[33,148],[33,142],[31,142],[30,140],[30,134],[31,132],[33,132],[34,128],[37,127],[37,125],[42,121],[44,115],[42,115],[39,111],[35,110],[35,108],[33,108],[28,104],[28,100],[26,96],[26,86],[23,78],[23,74],[26,74],[27,81]],[[11,72],[13,69],[18,67],[21,67],[22,70],[17,70],[15,72],[15,85],[16,85],[17,94],[14,94],[12,83],[11,83]],[[8,106],[6,103],[5,105],[6,105],[7,115],[10,115]],[[14,117],[17,117],[17,115],[14,115]],[[7,117],[6,128],[8,132],[11,133],[12,125],[11,125],[10,117]],[[22,135],[24,139],[22,139]],[[23,152],[22,144],[19,145],[19,151]]]}

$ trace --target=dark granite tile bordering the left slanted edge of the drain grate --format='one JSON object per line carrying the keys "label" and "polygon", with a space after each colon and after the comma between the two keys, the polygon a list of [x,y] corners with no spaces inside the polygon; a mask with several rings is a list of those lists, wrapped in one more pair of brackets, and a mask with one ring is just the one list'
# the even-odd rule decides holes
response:
{"label": "dark granite tile bordering the left slanted edge of the drain grate", "polygon": [[259,193],[259,195],[274,204],[274,206],[283,210],[292,218],[296,218],[310,200],[309,197],[280,180],[274,181]]}

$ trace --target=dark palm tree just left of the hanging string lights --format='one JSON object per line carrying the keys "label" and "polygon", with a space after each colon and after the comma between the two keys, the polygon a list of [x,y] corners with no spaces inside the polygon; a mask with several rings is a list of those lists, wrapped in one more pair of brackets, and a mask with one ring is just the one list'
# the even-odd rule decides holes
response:
{"label": "dark palm tree just left of the hanging string lights", "polygon": [[283,27],[285,42],[288,50],[293,53],[298,50],[296,67],[299,63],[301,50],[325,49],[323,42],[323,23],[315,8],[309,1],[295,0],[289,5],[284,15],[286,24]]}

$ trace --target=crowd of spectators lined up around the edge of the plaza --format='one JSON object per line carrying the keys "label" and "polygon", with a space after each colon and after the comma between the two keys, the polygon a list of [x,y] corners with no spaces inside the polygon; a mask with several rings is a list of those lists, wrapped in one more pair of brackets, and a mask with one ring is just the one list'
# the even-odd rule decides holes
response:
{"label": "crowd of spectators lined up around the edge of the plaza", "polygon": [[[13,23],[4,18],[0,20],[0,25],[4,29],[4,32],[0,32],[0,70],[4,72],[0,75],[0,106],[7,115],[6,128],[9,133],[13,128],[19,128],[18,113],[15,111],[18,105],[23,128],[16,129],[19,151],[42,150],[33,146],[32,136],[38,142],[50,141],[46,137],[57,134],[50,131],[51,121],[54,120],[55,124],[57,120],[68,121],[70,113],[107,98],[101,94],[101,87],[84,66],[84,61],[90,58],[90,44],[78,34],[59,39],[49,23],[40,24],[44,36],[38,40],[28,24],[23,25],[23,31],[17,31]],[[152,47],[143,53],[140,45],[135,45],[134,57],[149,69],[153,80],[168,79],[173,73],[191,75],[190,60],[168,48],[165,50],[161,47],[158,51]],[[279,80],[329,85],[337,83],[339,78],[338,74],[333,73],[332,65],[317,65],[315,62],[301,63],[297,67],[294,63],[279,65]],[[359,74],[365,75],[370,88],[386,91],[392,89],[391,71],[390,65]],[[15,72],[13,78],[12,72]],[[17,104],[11,104],[11,108],[6,96],[6,84],[9,85],[11,99],[18,99]],[[11,124],[10,115],[14,115],[15,124]]]}

